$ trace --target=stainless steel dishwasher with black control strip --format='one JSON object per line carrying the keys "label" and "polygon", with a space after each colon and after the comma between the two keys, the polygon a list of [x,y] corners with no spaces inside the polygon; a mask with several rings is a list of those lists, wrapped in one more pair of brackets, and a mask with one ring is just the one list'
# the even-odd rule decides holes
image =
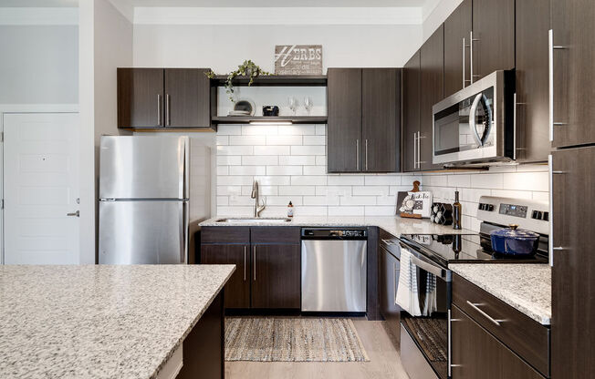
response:
{"label": "stainless steel dishwasher with black control strip", "polygon": [[366,312],[368,232],[304,228],[302,312]]}

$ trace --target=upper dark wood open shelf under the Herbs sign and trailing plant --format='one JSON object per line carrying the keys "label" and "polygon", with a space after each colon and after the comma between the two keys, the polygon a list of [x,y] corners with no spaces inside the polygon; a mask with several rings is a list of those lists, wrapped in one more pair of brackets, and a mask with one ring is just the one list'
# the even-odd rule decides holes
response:
{"label": "upper dark wood open shelf under the Herbs sign and trailing plant", "polygon": [[[217,75],[211,79],[211,84],[216,87],[224,87],[226,75]],[[250,81],[249,77],[235,77],[234,86],[245,87]],[[326,75],[271,75],[260,76],[254,79],[252,86],[255,87],[326,87]]]}

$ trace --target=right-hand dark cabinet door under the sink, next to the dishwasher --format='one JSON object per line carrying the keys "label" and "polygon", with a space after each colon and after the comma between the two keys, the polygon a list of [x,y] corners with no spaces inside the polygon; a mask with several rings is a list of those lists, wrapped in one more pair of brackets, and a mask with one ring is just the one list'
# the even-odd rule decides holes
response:
{"label": "right-hand dark cabinet door under the sink, next to the dishwasher", "polygon": [[301,306],[299,245],[252,245],[252,308]]}

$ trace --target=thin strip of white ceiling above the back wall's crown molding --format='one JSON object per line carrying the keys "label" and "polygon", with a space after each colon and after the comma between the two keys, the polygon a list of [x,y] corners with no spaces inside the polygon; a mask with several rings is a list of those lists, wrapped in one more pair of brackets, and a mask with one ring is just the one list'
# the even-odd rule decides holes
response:
{"label": "thin strip of white ceiling above the back wall's crown molding", "polygon": [[433,0],[112,0],[132,6],[199,7],[423,7]]}

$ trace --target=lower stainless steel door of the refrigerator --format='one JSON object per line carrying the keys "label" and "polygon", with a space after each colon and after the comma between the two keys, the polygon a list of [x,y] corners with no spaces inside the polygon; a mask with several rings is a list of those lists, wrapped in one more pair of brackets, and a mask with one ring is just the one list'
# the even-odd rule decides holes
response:
{"label": "lower stainless steel door of the refrigerator", "polygon": [[186,201],[99,201],[99,263],[185,263]]}

